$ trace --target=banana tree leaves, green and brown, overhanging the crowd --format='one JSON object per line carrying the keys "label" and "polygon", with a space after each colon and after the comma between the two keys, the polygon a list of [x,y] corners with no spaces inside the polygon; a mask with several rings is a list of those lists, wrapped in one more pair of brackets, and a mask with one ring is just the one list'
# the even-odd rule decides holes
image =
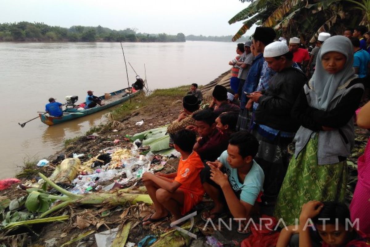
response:
{"label": "banana tree leaves, green and brown, overhanging the crowd", "polygon": [[[353,8],[353,4],[358,6]],[[239,39],[253,25],[273,27],[287,36],[316,37],[317,32],[341,33],[344,26],[360,23],[363,14],[370,13],[370,0],[256,0],[236,14],[229,24],[244,20],[233,37]],[[336,12],[336,14],[334,14]],[[361,19],[357,18],[361,16]],[[370,15],[364,19],[370,20]]]}

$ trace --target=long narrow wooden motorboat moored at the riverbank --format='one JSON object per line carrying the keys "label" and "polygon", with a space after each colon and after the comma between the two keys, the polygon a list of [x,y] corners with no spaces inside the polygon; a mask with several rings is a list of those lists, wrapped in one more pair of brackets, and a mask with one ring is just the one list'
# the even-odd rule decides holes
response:
{"label": "long narrow wooden motorboat moored at the riverbank", "polygon": [[[63,111],[63,116],[60,117],[54,117],[50,116],[48,114],[38,114],[40,116],[41,122],[44,124],[47,124],[49,126],[63,123],[65,121],[69,121],[72,119],[77,119],[78,117],[83,117],[92,113],[95,113],[97,111],[101,111],[104,109],[107,109],[109,107],[115,106],[117,104],[120,104],[124,101],[127,101],[130,97],[129,94],[126,92],[127,88],[121,89],[118,91],[114,91],[110,93],[111,99],[105,100],[105,96],[100,96],[99,99],[104,100],[105,105],[104,106],[95,106],[94,108],[89,108],[85,110],[77,110],[77,108],[67,108]],[[137,96],[140,93],[141,90],[136,91],[135,93],[131,93],[131,98]]]}

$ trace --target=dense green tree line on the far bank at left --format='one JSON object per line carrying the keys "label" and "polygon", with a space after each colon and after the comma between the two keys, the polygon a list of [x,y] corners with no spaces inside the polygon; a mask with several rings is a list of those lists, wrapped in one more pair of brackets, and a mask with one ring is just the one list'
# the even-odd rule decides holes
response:
{"label": "dense green tree line on the far bank at left", "polygon": [[49,26],[44,23],[0,24],[0,41],[107,41],[107,42],[185,42],[185,35],[137,33],[137,29],[112,30],[107,27]]}

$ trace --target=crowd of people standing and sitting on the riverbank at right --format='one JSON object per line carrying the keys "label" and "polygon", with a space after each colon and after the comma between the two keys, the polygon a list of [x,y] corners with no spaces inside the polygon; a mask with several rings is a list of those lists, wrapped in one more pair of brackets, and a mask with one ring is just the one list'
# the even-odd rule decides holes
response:
{"label": "crowd of people standing and sitting on the riverbank at right", "polygon": [[[179,168],[172,174],[144,174],[155,212],[143,224],[170,215],[177,220],[206,193],[214,206],[202,212],[202,219],[217,220],[229,212],[245,219],[238,229],[242,234],[250,232],[246,223],[261,207],[272,207],[273,216],[290,225],[280,233],[279,247],[365,246],[369,145],[359,158],[350,208],[344,198],[354,125],[370,127],[370,103],[355,115],[368,83],[366,32],[359,26],[343,36],[320,33],[309,53],[299,38],[287,44],[276,40],[272,28],[257,27],[229,61],[231,91],[215,86],[203,110],[197,84],[183,98],[184,110],[168,127],[170,145],[181,153]],[[313,223],[308,228],[307,220]]]}

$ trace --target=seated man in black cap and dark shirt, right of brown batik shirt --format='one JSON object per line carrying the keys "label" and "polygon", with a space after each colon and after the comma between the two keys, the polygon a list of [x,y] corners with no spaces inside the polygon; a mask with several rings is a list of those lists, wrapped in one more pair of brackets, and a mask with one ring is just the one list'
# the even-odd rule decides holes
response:
{"label": "seated man in black cap and dark shirt, right of brown batik shirt", "polygon": [[[212,102],[209,109],[218,117],[223,112],[232,112],[239,114],[240,108],[235,104],[228,103],[228,90],[226,87],[216,85],[212,92]],[[216,108],[217,106],[217,108]]]}

